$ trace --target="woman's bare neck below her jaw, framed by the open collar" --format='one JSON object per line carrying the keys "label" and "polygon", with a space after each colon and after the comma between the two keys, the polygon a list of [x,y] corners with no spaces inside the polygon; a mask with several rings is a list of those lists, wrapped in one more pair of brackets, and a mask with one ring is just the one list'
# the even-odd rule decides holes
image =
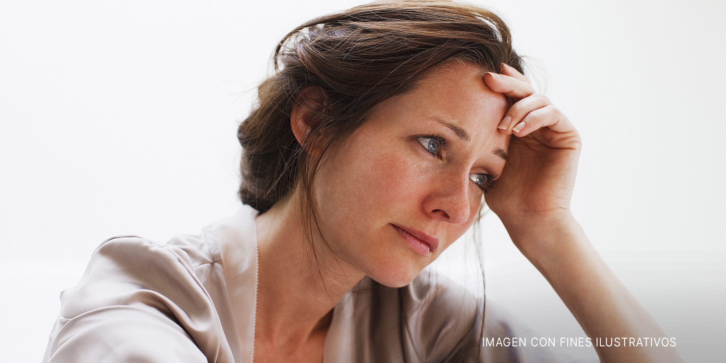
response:
{"label": "woman's bare neck below her jaw, framed by the open collar", "polygon": [[287,348],[304,346],[321,334],[325,339],[333,307],[364,277],[319,240],[314,240],[314,252],[311,250],[310,242],[303,237],[298,203],[298,195],[293,192],[256,218],[259,260],[255,340]]}

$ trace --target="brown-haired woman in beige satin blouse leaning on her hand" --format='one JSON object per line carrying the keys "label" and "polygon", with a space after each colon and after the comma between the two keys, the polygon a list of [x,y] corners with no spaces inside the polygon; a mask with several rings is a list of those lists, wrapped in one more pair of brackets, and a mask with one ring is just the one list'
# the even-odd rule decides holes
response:
{"label": "brown-haired woman in beige satin blouse leaning on her hand", "polygon": [[[579,135],[492,12],[376,2],[301,25],[274,60],[238,133],[245,207],[199,236],[99,246],[46,362],[526,361],[481,347],[507,325],[421,273],[485,193],[587,335],[664,335],[569,212]],[[680,362],[670,346],[596,349]]]}

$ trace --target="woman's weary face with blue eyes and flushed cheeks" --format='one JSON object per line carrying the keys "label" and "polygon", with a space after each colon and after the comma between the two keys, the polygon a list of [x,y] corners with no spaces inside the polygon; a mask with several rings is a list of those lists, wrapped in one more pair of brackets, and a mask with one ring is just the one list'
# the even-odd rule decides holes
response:
{"label": "woman's weary face with blue eyes and flushed cheeks", "polygon": [[439,66],[382,102],[315,184],[320,227],[343,261],[383,285],[411,282],[473,224],[482,187],[501,174],[509,103],[486,70]]}

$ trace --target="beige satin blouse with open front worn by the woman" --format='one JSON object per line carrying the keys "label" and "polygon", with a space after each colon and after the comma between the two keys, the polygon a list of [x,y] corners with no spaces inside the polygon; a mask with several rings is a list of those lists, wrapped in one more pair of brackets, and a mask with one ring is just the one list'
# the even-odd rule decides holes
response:
{"label": "beige satin blouse with open front worn by the woman", "polygon": [[[252,362],[256,214],[245,205],[167,243],[102,243],[81,282],[61,293],[43,362]],[[481,306],[429,272],[401,288],[364,278],[333,309],[323,361],[564,362],[541,347],[483,347]],[[483,334],[534,336],[491,304]]]}

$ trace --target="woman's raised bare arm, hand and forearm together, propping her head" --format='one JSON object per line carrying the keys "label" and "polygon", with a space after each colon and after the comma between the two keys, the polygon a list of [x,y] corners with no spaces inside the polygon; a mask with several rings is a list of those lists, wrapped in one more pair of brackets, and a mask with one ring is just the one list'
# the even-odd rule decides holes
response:
{"label": "woman's raised bare arm, hand and forearm together, propping her head", "polygon": [[[486,202],[512,241],[550,282],[593,341],[662,338],[663,330],[622,285],[570,211],[581,139],[565,115],[514,68],[484,77],[513,103],[499,131],[515,136]],[[601,362],[682,362],[671,346],[595,346]]]}

